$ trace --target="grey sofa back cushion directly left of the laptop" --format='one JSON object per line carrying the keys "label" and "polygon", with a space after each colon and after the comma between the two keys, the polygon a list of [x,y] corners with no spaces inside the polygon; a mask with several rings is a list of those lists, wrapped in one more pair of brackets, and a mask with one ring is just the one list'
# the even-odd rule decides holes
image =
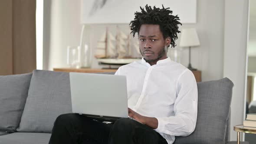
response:
{"label": "grey sofa back cushion directly left of the laptop", "polygon": [[72,111],[69,73],[34,70],[20,132],[51,132],[56,118]]}

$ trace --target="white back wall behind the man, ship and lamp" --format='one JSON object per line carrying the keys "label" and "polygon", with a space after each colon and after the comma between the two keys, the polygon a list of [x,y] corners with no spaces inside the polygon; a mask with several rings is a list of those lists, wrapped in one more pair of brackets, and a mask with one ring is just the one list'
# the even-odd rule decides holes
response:
{"label": "white back wall behind the man, ship and lamp", "polygon": [[[68,45],[79,45],[80,0],[45,0],[45,13],[48,23],[44,32],[44,67],[53,70],[57,67],[67,67],[66,48]],[[47,5],[48,4],[48,5]],[[51,8],[49,8],[51,7]],[[197,0],[197,23],[184,24],[182,27],[195,27],[201,45],[191,51],[192,66],[202,71],[202,80],[221,79],[223,76],[223,0]],[[46,21],[46,20],[45,20]],[[48,27],[47,27],[48,24]],[[108,26],[112,33],[116,31],[115,24],[94,24],[85,27],[85,42],[95,50],[95,44]],[[130,33],[128,24],[118,25],[124,33]],[[177,40],[177,48],[179,40]],[[172,50],[168,55],[171,56]],[[188,49],[184,48],[181,64],[188,65]],[[92,68],[100,68],[93,57]]]}

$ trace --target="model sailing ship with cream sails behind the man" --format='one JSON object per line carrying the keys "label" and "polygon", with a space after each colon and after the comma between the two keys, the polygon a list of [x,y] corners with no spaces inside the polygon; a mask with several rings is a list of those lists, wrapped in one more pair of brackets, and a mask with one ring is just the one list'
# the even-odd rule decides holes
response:
{"label": "model sailing ship with cream sails behind the man", "polygon": [[[97,42],[95,58],[99,62],[109,64],[126,64],[138,60],[140,57],[138,40],[132,43],[131,35],[123,33],[117,27],[117,34],[113,36],[108,28]],[[135,57],[132,57],[132,50],[135,49]]]}

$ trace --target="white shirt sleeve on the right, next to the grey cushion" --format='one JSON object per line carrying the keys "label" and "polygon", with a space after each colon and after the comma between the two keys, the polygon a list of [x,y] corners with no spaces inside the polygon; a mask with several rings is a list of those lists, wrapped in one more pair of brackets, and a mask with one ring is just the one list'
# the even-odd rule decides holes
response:
{"label": "white shirt sleeve on the right, next to the grey cushion", "polygon": [[194,74],[186,69],[176,84],[177,98],[174,103],[174,116],[157,118],[158,133],[174,136],[191,134],[197,122],[197,82]]}

